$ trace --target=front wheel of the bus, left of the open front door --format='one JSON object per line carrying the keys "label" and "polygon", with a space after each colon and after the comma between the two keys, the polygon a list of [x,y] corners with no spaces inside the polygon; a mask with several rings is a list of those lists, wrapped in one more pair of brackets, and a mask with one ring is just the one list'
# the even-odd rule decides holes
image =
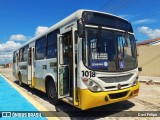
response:
{"label": "front wheel of the bus, left of the open front door", "polygon": [[59,103],[58,94],[53,80],[47,82],[47,95],[50,103],[57,105]]}

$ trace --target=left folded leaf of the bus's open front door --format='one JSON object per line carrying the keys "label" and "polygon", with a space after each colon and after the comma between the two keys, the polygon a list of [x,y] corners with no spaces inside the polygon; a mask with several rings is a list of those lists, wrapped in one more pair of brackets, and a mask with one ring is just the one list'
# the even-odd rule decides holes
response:
{"label": "left folded leaf of the bus's open front door", "polygon": [[69,96],[68,40],[58,35],[58,98]]}

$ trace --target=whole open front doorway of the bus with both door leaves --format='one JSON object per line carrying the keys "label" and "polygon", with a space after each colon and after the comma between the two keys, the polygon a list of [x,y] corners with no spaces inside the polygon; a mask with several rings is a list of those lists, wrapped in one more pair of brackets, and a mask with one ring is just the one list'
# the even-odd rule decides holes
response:
{"label": "whole open front doorway of the bus with both door leaves", "polygon": [[58,35],[58,98],[70,98],[70,102],[78,105],[76,62],[75,55],[75,29]]}

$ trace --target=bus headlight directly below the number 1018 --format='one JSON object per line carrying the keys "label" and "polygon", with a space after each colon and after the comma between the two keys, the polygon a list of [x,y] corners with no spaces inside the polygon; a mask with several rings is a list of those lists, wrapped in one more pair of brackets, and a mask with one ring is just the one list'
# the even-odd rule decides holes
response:
{"label": "bus headlight directly below the number 1018", "polygon": [[103,91],[100,85],[98,85],[96,82],[94,82],[91,79],[83,78],[83,83],[88,87],[91,91]]}

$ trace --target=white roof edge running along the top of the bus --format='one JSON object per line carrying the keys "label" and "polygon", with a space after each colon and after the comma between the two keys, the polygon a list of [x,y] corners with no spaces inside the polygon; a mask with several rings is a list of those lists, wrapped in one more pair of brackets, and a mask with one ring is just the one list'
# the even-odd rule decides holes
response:
{"label": "white roof edge running along the top of the bus", "polygon": [[[22,46],[20,46],[18,49],[20,49],[20,48],[22,48],[22,47],[24,47],[24,46],[26,46],[26,45],[34,42],[35,40],[43,37],[44,35],[52,32],[52,31],[54,31],[54,30],[56,30],[56,29],[58,29],[58,28],[60,28],[60,27],[63,27],[64,25],[66,25],[66,24],[69,23],[69,22],[72,22],[72,21],[74,21],[74,20],[77,20],[77,19],[81,18],[81,17],[82,17],[82,13],[83,13],[84,11],[102,13],[102,14],[114,16],[114,17],[123,19],[123,20],[125,20],[125,21],[128,21],[128,20],[126,20],[126,19],[124,19],[124,18],[122,18],[122,17],[116,16],[116,15],[113,15],[113,14],[110,14],[110,13],[100,12],[100,11],[95,11],[95,10],[80,9],[80,10],[77,10],[76,12],[72,13],[72,14],[69,15],[68,17],[64,18],[64,19],[61,20],[60,22],[54,24],[53,26],[51,26],[51,27],[50,27],[48,30],[46,30],[45,32],[43,32],[43,33],[41,33],[41,34],[39,34],[39,35],[31,38],[28,42],[24,43],[24,44],[23,44]],[[128,21],[128,22],[129,22],[129,21]],[[14,51],[17,51],[18,49],[14,50]]]}

